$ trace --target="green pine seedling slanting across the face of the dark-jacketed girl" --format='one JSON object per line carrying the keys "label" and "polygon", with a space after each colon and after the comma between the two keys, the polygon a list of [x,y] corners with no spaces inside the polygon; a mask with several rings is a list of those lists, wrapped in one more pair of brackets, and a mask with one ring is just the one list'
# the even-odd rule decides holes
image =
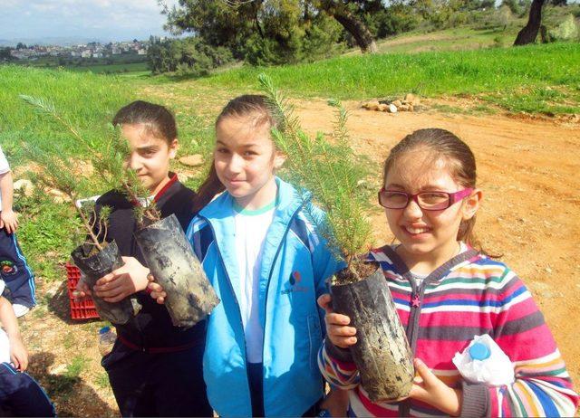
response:
{"label": "green pine seedling slanting across the face of the dark-jacketed girl", "polygon": [[[119,127],[109,125],[108,135],[97,143],[83,138],[73,124],[57,111],[53,102],[22,94],[20,98],[61,125],[87,151],[95,172],[102,180],[110,188],[120,189],[131,202],[136,203],[135,219],[141,227],[160,220],[160,212],[149,198],[149,191],[140,184],[135,171],[127,166],[131,149],[128,142],[121,138]],[[69,169],[67,166],[63,168]]]}

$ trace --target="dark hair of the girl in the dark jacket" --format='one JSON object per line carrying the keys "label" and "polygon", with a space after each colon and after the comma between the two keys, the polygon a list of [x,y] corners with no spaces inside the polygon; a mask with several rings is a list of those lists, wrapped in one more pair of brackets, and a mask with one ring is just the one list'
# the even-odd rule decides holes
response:
{"label": "dark hair of the girl in the dark jacket", "polygon": [[178,128],[173,114],[165,107],[137,100],[119,109],[112,124],[145,125],[156,138],[165,139],[168,145],[178,138]]}

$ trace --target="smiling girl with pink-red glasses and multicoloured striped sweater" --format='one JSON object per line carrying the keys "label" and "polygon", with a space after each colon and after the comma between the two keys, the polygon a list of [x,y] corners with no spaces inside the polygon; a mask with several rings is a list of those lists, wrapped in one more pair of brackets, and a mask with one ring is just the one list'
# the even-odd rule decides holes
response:
{"label": "smiling girl with pink-red glasses and multicoloured striped sweater", "polygon": [[[373,403],[347,349],[356,329],[322,296],[327,337],[319,366],[331,385],[349,389],[349,416],[575,414],[578,396],[529,291],[505,264],[471,246],[481,195],[475,157],[449,131],[420,129],[392,148],[379,201],[401,243],[369,259],[382,267],[417,376],[407,400]],[[513,384],[470,384],[459,375],[452,357],[483,334],[509,357]]]}

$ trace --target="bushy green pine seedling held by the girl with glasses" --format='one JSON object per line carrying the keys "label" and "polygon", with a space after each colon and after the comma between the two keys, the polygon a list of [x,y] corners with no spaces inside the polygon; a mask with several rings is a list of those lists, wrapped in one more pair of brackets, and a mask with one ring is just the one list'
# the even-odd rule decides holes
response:
{"label": "bushy green pine seedling held by the girl with glasses", "polygon": [[366,216],[370,195],[362,187],[367,170],[349,144],[348,112],[340,102],[329,102],[336,109],[333,140],[321,133],[311,138],[300,127],[294,107],[275,89],[271,79],[260,74],[259,82],[279,121],[272,135],[276,147],[287,157],[289,180],[312,192],[326,215],[316,214],[311,204],[304,205],[306,214],[335,255],[346,261],[353,280],[362,280],[366,269],[362,268],[360,256],[371,247],[372,228]]}

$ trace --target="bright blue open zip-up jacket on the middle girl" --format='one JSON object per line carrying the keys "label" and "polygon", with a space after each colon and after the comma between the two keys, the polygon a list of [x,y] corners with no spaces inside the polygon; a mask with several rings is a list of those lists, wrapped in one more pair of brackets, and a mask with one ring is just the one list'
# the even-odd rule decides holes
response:
{"label": "bright blue open zip-up jacket on the middle girl", "polygon": [[[278,178],[276,184],[278,204],[266,234],[259,282],[264,410],[268,416],[300,416],[324,394],[316,361],[325,334],[324,311],[316,299],[327,292],[324,280],[341,264],[304,215],[304,199],[292,185]],[[227,192],[220,195],[194,218],[187,235],[221,299],[208,319],[203,359],[209,403],[221,416],[251,416],[233,202]]]}

